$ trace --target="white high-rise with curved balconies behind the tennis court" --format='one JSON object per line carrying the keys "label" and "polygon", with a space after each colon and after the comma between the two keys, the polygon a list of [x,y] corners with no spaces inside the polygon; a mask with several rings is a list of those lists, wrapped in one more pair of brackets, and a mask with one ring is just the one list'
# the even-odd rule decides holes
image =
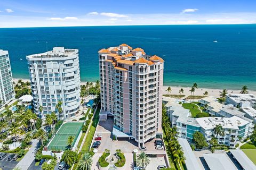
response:
{"label": "white high-rise with curved balconies behind the tennis court", "polygon": [[[55,112],[60,119],[75,116],[80,107],[78,49],[54,47],[52,51],[27,56],[36,114]],[[58,112],[61,101],[62,112]],[[42,113],[39,106],[43,106]]]}

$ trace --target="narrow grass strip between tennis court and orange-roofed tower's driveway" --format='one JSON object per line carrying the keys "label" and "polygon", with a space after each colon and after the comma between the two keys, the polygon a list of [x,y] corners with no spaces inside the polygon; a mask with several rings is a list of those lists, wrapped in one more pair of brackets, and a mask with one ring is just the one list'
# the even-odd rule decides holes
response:
{"label": "narrow grass strip between tennis court and orange-roofed tower's driveway", "polygon": [[93,119],[92,119],[92,125],[90,126],[89,132],[87,133],[86,139],[84,141],[84,145],[82,147],[81,152],[86,153],[90,150],[90,145],[93,140],[93,136],[97,127],[97,124],[99,122],[99,114],[100,114],[100,108],[98,107]]}

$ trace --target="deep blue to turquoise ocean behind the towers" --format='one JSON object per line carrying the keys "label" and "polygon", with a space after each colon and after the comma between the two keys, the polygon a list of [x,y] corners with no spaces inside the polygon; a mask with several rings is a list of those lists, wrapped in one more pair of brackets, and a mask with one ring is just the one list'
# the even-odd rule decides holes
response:
{"label": "deep blue to turquoise ocean behind the towers", "polygon": [[256,24],[0,29],[14,78],[28,78],[26,55],[64,46],[79,49],[82,81],[95,81],[98,50],[122,43],[162,57],[165,85],[256,90]]}

